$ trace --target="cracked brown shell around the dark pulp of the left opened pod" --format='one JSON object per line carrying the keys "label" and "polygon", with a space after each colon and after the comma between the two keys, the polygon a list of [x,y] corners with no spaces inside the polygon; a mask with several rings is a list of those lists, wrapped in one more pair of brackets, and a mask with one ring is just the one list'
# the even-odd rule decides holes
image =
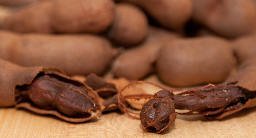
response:
{"label": "cracked brown shell around the dark pulp of the left opened pod", "polygon": [[13,64],[9,61],[0,59],[0,107],[10,107],[15,106],[16,108],[26,108],[30,111],[39,114],[52,114],[65,121],[69,122],[84,122],[93,118],[98,118],[101,115],[100,109],[97,109],[91,115],[86,116],[66,116],[57,110],[47,110],[39,108],[29,102],[17,103],[15,96],[15,89],[17,86],[30,85],[32,81],[39,74],[53,75],[57,78],[62,78],[69,83],[75,84],[76,86],[87,90],[88,95],[92,97],[95,101],[98,99],[98,95],[86,84],[76,81],[55,68],[48,67],[22,67]]}

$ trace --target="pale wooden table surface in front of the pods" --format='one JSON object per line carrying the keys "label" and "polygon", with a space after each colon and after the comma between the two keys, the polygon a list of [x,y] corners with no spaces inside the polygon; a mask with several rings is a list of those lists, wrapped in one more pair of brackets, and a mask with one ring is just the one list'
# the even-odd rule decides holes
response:
{"label": "pale wooden table surface in front of the pods", "polygon": [[98,120],[69,123],[51,115],[24,109],[0,108],[0,138],[255,138],[256,108],[244,109],[219,120],[178,115],[160,134],[143,132],[140,120],[118,111]]}

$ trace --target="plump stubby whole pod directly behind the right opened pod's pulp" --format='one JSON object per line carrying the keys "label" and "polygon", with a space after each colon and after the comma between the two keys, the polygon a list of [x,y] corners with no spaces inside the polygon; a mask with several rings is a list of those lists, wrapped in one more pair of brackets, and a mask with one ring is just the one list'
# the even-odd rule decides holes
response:
{"label": "plump stubby whole pod directly behind the right opened pod's pulp", "polygon": [[174,40],[160,50],[156,70],[169,85],[186,87],[224,81],[234,67],[231,43],[215,36]]}

